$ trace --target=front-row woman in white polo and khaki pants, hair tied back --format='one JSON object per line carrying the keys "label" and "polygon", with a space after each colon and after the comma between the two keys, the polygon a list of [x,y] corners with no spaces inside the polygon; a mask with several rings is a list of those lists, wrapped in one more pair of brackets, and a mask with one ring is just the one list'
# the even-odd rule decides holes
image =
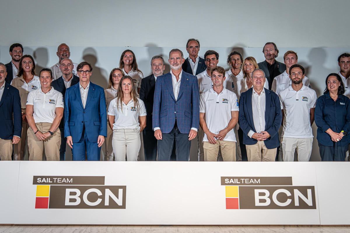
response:
{"label": "front-row woman in white polo and khaki pants, hair tied back", "polygon": [[58,125],[63,116],[63,96],[51,87],[52,71],[43,68],[39,75],[41,88],[28,94],[26,117],[30,128],[27,130],[29,160],[59,161],[61,133]]}

